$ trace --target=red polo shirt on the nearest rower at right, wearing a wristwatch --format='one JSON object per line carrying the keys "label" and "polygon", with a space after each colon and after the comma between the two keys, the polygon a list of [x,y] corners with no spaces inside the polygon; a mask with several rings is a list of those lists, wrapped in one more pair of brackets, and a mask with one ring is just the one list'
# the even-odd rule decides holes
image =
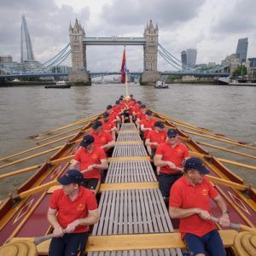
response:
{"label": "red polo shirt on the nearest rower at right, wearing a wristwatch", "polygon": [[[183,209],[195,207],[210,212],[210,198],[215,198],[217,195],[218,191],[213,188],[207,177],[203,177],[201,184],[193,186],[183,176],[172,185],[169,206]],[[186,233],[201,237],[215,229],[216,225],[212,220],[201,219],[198,214],[193,214],[187,218],[180,218],[179,230],[182,237]]]}

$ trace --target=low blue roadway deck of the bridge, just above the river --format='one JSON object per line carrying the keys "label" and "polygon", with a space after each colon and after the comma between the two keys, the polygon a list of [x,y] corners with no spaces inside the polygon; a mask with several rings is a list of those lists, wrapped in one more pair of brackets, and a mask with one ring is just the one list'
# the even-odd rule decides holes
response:
{"label": "low blue roadway deck of the bridge, just above the river", "polygon": [[[228,77],[229,73],[200,73],[200,72],[176,72],[176,71],[165,71],[160,72],[162,76],[166,75],[180,75],[180,76],[196,76],[204,78],[213,78],[213,77]],[[102,76],[111,76],[111,75],[120,75],[120,72],[89,72],[91,78],[102,77]],[[129,72],[128,75],[142,76],[142,72]],[[22,79],[22,78],[39,78],[39,77],[67,77],[68,73],[23,73],[23,74],[5,74],[0,75],[1,79]]]}

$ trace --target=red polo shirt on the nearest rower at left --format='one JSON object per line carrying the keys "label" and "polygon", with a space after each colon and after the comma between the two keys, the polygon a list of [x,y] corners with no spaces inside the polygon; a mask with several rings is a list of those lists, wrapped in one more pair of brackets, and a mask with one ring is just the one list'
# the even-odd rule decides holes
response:
{"label": "red polo shirt on the nearest rower at left", "polygon": [[[95,194],[90,189],[79,187],[79,194],[74,201],[65,195],[63,189],[56,189],[50,197],[49,207],[57,210],[57,220],[63,229],[67,228],[74,220],[86,218],[88,211],[96,210]],[[89,226],[79,225],[73,233],[89,231]]]}

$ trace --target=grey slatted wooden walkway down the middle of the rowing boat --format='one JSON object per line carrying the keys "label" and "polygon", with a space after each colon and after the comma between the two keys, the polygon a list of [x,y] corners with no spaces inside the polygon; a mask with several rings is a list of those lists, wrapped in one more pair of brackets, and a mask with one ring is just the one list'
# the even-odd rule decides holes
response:
{"label": "grey slatted wooden walkway down the middle of the rowing boat", "polygon": [[[172,232],[171,218],[160,189],[148,189],[147,187],[148,184],[157,182],[150,161],[133,159],[137,156],[148,156],[136,126],[134,124],[122,125],[117,142],[113,149],[113,161],[108,167],[105,183],[108,185],[124,184],[125,189],[102,192],[99,203],[100,221],[94,225],[92,236],[132,236]],[[114,160],[115,157],[118,159]],[[125,157],[125,160],[121,157]],[[139,188],[142,189],[131,189],[125,183],[131,183],[131,188],[135,183],[141,183]],[[182,255],[182,253],[177,248],[95,252],[88,253],[88,255],[167,256]]]}

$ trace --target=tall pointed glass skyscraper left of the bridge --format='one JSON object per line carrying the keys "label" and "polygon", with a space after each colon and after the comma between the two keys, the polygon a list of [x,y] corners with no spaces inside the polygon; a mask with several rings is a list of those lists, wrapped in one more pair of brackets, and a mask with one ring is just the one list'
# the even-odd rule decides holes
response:
{"label": "tall pointed glass skyscraper left of the bridge", "polygon": [[26,26],[25,15],[21,17],[21,49],[20,49],[20,63],[24,61],[35,61],[33,54],[32,43],[29,36],[28,28]]}

